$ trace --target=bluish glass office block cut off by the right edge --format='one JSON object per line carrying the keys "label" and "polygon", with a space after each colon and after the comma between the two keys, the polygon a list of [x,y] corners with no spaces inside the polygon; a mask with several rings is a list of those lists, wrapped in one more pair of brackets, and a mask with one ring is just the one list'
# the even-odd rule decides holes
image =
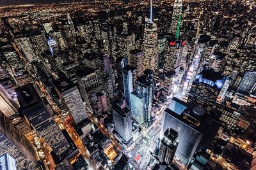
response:
{"label": "bluish glass office block cut off by the right edge", "polygon": [[247,71],[239,86],[237,87],[237,92],[244,94],[251,94],[256,90],[256,71]]}

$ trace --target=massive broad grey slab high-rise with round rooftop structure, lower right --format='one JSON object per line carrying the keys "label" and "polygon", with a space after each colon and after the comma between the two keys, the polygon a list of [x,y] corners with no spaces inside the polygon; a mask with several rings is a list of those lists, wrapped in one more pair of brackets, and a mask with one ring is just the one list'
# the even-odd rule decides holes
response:
{"label": "massive broad grey slab high-rise with round rooftop structure, lower right", "polygon": [[220,122],[205,114],[203,108],[184,103],[173,97],[170,106],[164,110],[160,138],[163,138],[168,128],[177,131],[179,145],[175,156],[182,164],[188,166],[199,148],[206,149],[210,146],[211,139],[216,135],[220,126]]}

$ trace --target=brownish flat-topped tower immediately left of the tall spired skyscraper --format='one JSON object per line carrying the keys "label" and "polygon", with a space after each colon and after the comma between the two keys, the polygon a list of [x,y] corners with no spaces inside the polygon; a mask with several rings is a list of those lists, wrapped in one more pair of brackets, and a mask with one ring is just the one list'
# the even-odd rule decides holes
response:
{"label": "brownish flat-topped tower immediately left of the tall spired skyscraper", "polygon": [[137,69],[137,77],[143,74],[143,57],[144,53],[142,50],[134,49],[131,50],[131,66]]}

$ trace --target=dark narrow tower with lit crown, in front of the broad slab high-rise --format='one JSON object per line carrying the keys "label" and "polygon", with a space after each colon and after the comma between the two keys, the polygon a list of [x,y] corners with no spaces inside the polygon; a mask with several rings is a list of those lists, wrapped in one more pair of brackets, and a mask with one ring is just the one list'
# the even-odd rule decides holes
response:
{"label": "dark narrow tower with lit crown, in front of the broad slab high-rise", "polygon": [[159,162],[165,162],[166,164],[172,164],[175,152],[179,142],[177,141],[179,134],[173,129],[166,129],[163,139],[161,140],[158,159]]}

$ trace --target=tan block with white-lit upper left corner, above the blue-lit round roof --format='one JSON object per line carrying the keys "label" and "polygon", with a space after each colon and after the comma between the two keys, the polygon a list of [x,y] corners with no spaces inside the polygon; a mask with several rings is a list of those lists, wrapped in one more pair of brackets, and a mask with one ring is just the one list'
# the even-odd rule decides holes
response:
{"label": "tan block with white-lit upper left corner, above the blue-lit round roof", "polygon": [[210,56],[210,66],[215,72],[223,71],[225,68],[226,60],[225,53],[214,52]]}

